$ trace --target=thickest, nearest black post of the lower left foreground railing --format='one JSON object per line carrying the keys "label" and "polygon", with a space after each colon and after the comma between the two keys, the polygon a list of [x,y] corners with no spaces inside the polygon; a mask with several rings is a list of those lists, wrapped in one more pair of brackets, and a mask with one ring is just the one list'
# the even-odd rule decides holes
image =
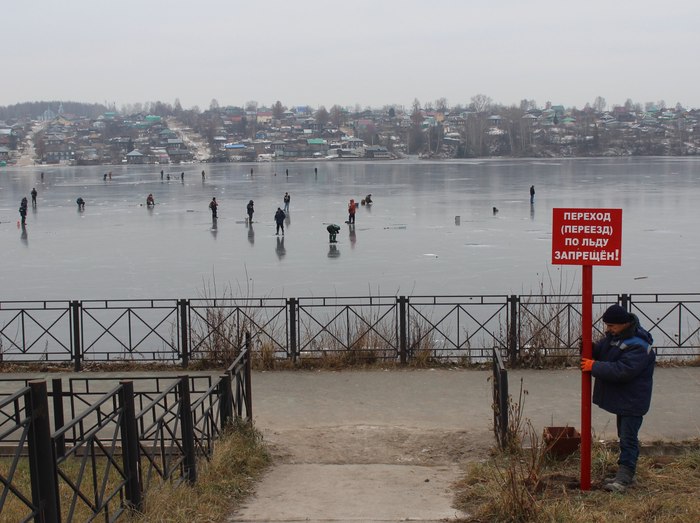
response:
{"label": "thickest, nearest black post of the lower left foreground railing", "polygon": [[29,398],[24,397],[30,423],[27,438],[32,503],[38,508],[35,523],[60,521],[56,457],[51,442],[49,398],[45,381],[30,381]]}

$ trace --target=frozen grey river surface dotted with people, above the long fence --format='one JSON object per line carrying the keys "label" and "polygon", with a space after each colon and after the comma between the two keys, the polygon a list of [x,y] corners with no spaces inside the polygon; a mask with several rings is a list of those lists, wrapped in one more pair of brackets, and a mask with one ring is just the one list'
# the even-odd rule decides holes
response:
{"label": "frozen grey river surface dotted with people, above the long fence", "polygon": [[[353,230],[348,201],[368,193]],[[2,168],[0,300],[194,298],[214,285],[255,297],[576,294],[580,267],[551,264],[553,207],[623,209],[622,266],[596,267],[594,292],[694,292],[699,201],[700,160],[686,158]],[[341,225],[335,247],[329,223]]]}

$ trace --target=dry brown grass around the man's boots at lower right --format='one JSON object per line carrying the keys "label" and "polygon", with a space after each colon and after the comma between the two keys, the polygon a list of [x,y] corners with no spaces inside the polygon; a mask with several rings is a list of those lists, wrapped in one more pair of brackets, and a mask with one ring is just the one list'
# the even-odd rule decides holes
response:
{"label": "dry brown grass around the man's boots at lower right", "polygon": [[456,504],[471,522],[700,521],[700,442],[673,456],[642,456],[637,483],[625,494],[602,490],[616,458],[616,451],[594,448],[591,490],[582,492],[578,454],[545,459],[536,478],[526,473],[532,470],[526,456],[500,454],[468,470],[456,485]]}

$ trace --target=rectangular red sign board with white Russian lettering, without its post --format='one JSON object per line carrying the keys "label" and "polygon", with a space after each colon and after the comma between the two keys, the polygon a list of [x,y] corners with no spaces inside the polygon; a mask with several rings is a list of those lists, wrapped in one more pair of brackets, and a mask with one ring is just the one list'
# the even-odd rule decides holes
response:
{"label": "rectangular red sign board with white Russian lettering, without its post", "polygon": [[552,209],[552,263],[622,265],[622,209]]}

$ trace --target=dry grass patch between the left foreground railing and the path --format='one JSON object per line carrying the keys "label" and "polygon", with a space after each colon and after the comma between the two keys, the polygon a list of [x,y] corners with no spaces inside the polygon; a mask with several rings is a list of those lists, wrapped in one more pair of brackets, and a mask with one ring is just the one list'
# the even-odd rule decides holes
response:
{"label": "dry grass patch between the left foreground railing and the path", "polygon": [[211,461],[201,461],[194,485],[165,483],[149,490],[143,514],[132,522],[223,521],[270,463],[262,437],[239,423],[217,440]]}

